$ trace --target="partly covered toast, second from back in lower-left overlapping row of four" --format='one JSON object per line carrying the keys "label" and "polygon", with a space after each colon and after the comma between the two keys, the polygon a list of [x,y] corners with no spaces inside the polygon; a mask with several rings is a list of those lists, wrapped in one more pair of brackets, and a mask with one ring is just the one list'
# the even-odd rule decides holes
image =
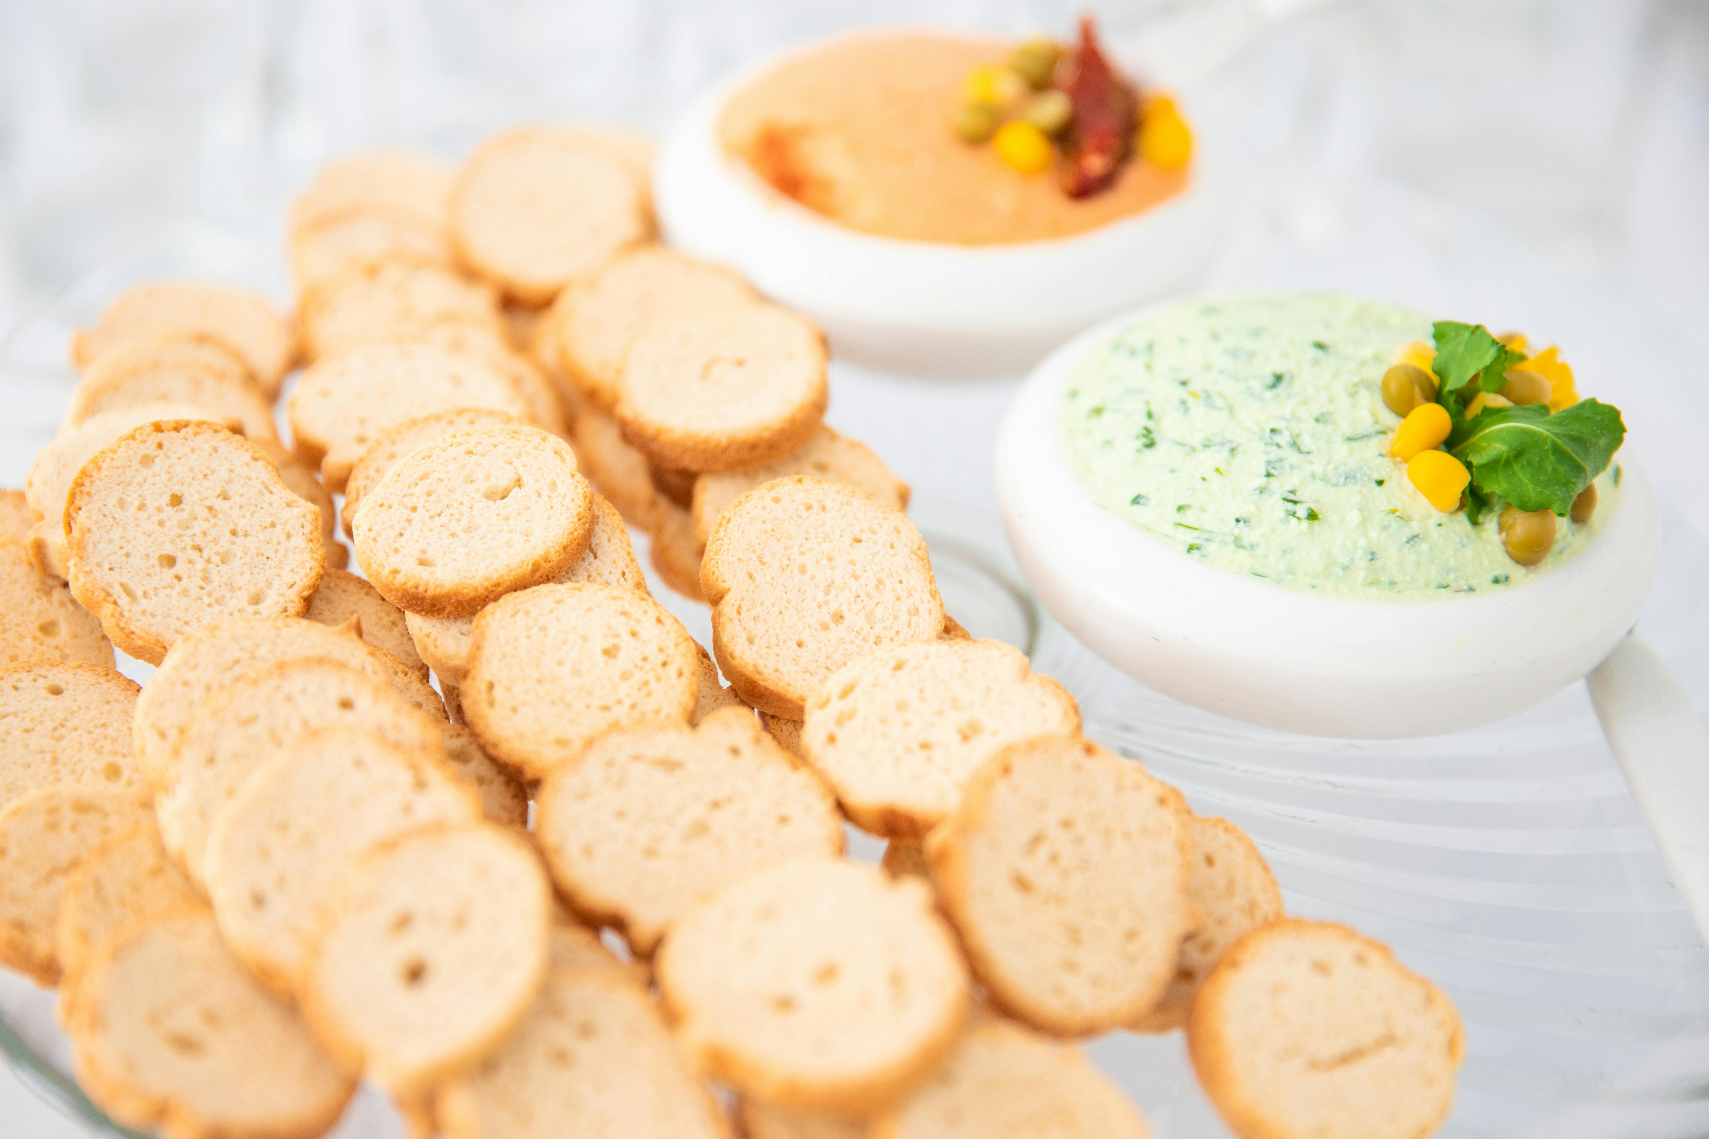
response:
{"label": "partly covered toast, second from back in lower-left overlapping row of four", "polygon": [[280,661],[197,705],[178,741],[176,777],[154,811],[161,838],[197,883],[220,811],[261,765],[311,731],[367,731],[410,755],[444,760],[441,726],[383,680],[325,657]]}

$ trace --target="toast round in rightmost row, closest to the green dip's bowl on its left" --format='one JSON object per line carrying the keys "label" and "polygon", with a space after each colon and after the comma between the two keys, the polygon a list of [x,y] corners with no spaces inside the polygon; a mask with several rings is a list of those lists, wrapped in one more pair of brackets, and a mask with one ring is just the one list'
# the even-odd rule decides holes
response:
{"label": "toast round in rightmost row, closest to the green dip's bowl on its left", "polygon": [[725,511],[701,565],[713,652],[743,700],[802,719],[858,656],[943,632],[926,543],[865,490],[779,478]]}

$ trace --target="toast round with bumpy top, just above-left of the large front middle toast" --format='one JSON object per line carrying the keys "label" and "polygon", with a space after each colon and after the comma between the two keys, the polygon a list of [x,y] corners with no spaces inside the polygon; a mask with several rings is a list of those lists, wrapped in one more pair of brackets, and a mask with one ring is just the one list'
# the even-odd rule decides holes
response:
{"label": "toast round with bumpy top, just above-left of the large front middle toast", "polygon": [[692,729],[607,733],[547,775],[535,801],[559,891],[639,955],[742,874],[843,852],[831,791],[745,709]]}

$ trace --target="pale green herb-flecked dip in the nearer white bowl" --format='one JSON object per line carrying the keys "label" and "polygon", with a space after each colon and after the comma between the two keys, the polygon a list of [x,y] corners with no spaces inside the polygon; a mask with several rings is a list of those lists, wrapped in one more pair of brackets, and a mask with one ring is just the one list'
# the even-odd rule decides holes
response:
{"label": "pale green herb-flecked dip in the nearer white bowl", "polygon": [[1615,507],[1557,519],[1535,569],[1495,517],[1442,514],[1388,454],[1400,417],[1383,372],[1430,318],[1335,294],[1188,301],[1084,360],[1061,406],[1075,475],[1099,504],[1189,557],[1278,586],[1355,599],[1489,593],[1574,557]]}

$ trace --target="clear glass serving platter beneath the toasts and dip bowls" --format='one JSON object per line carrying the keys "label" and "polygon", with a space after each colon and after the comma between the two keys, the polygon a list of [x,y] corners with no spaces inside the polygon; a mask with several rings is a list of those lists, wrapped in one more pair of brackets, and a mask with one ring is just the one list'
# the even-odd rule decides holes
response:
{"label": "clear glass serving platter beneath the toasts and dip bowls", "polygon": [[[1371,200],[1369,188],[1360,193]],[[1239,222],[1249,227],[1244,253],[1225,258],[1212,282],[1338,283],[1439,304],[1451,297],[1459,306],[1439,311],[1487,311],[1478,307],[1485,295],[1444,285],[1446,277],[1418,285],[1417,266],[1454,260],[1453,244],[1439,239],[1441,215],[1413,208],[1412,220],[1398,224],[1415,203],[1377,200],[1395,208],[1367,210],[1364,231],[1355,224],[1328,246],[1289,232],[1285,217],[1266,220],[1260,207]],[[1490,236],[1477,237],[1487,249]],[[7,408],[0,485],[21,485],[36,449],[55,434],[73,383],[65,364],[72,326],[125,283],[152,277],[231,280],[282,299],[279,248],[277,232],[190,222],[104,266],[14,330],[0,342]],[[1372,272],[1374,248],[1413,258],[1410,289]],[[1523,253],[1507,253],[1512,265],[1540,272]],[[1526,289],[1528,280],[1519,273],[1482,289],[1507,295],[1501,290]],[[1547,333],[1550,321],[1555,330],[1572,324],[1569,307],[1518,306],[1499,316]],[[1391,943],[1449,992],[1466,1021],[1466,1066],[1442,1136],[1709,1134],[1709,949],[1668,883],[1584,686],[1492,727],[1389,743],[1271,733],[1142,688],[1041,613],[1008,560],[991,490],[991,441],[1013,386],[919,384],[832,365],[829,418],[913,485],[909,512],[928,536],[947,610],[974,635],[1032,652],[1034,668],[1080,700],[1089,736],[1179,786],[1196,811],[1244,827],[1275,867],[1290,912],[1342,920]],[[1625,400],[1627,391],[1615,394]],[[1641,406],[1636,396],[1634,403]],[[1661,575],[1639,630],[1704,709],[1704,523],[1685,512],[1695,504],[1668,499],[1668,463],[1649,451],[1646,463],[1658,471],[1670,516]],[[658,582],[655,593],[696,639],[709,640],[704,606]],[[126,663],[125,671],[145,680],[149,668]],[[856,857],[875,859],[880,850],[851,832]],[[1114,1033],[1087,1050],[1143,1107],[1159,1139],[1227,1137],[1193,1079],[1179,1033]],[[77,1091],[53,1023],[53,994],[7,973],[0,973],[0,1054],[91,1136],[133,1134]],[[403,1130],[385,1100],[366,1089],[333,1134],[390,1139]]]}

